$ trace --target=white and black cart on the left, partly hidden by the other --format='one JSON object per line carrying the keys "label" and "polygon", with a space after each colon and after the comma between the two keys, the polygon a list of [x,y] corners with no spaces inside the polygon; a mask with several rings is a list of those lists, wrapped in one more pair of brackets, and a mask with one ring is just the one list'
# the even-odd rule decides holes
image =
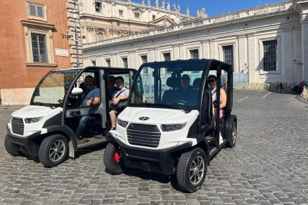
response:
{"label": "white and black cart on the left, partly hidden by the other", "polygon": [[[30,105],[12,113],[7,125],[5,149],[12,155],[38,156],[40,162],[53,167],[67,156],[75,157],[80,148],[103,143],[110,126],[107,82],[110,76],[123,77],[131,85],[136,70],[124,68],[70,68],[52,70],[38,83]],[[81,107],[84,78],[91,75],[100,89],[97,107]],[[125,102],[121,103],[124,109]],[[97,122],[88,127],[85,143],[77,145],[75,131],[82,116],[93,115]]]}

